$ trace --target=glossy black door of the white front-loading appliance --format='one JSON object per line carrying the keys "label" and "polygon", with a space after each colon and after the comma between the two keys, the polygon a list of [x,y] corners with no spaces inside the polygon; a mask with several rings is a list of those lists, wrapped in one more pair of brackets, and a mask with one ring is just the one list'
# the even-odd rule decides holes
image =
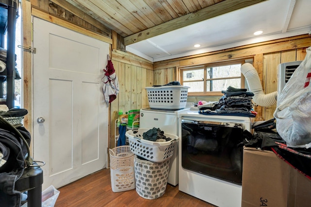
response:
{"label": "glossy black door of the white front-loading appliance", "polygon": [[182,167],[242,184],[243,144],[241,127],[184,122],[182,126]]}

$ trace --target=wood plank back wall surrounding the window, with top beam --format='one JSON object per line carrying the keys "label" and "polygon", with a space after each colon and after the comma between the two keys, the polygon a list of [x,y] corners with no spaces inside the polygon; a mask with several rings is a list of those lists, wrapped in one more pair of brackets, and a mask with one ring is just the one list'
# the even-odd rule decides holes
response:
{"label": "wood plank back wall surrounding the window, with top beam", "polygon": [[[156,83],[155,85],[162,85],[166,82],[179,80],[177,75],[179,74],[178,67],[202,65],[246,57],[254,59],[254,67],[258,71],[263,91],[267,94],[277,90],[278,64],[303,60],[306,56],[306,48],[310,46],[311,36],[299,35],[223,51],[159,61],[154,63],[154,83]],[[176,76],[166,76],[166,74],[171,73],[170,71],[174,71],[173,74]],[[215,96],[188,96],[187,101],[197,103],[200,100],[218,101],[219,98],[220,97]],[[275,109],[275,105],[269,107],[255,107],[255,110],[258,112],[256,121],[272,119]]]}

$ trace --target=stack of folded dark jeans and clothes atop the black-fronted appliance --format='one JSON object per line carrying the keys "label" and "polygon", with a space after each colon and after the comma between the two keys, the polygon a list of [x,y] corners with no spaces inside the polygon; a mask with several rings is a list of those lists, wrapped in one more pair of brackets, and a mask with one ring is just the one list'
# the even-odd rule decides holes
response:
{"label": "stack of folded dark jeans and clothes atop the black-fronted appliance", "polygon": [[205,115],[226,115],[226,116],[244,116],[256,117],[251,112],[252,97],[254,93],[245,88],[234,88],[229,86],[223,90],[224,95],[220,98],[214,111],[210,109],[200,110],[200,114]]}

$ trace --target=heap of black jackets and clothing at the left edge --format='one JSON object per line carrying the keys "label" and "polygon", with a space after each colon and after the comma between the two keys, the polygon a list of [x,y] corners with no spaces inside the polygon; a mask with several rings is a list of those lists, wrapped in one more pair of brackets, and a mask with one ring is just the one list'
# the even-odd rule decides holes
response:
{"label": "heap of black jackets and clothing at the left edge", "polygon": [[[26,109],[10,109],[0,115],[0,201],[1,206],[19,207],[20,191],[15,183],[22,176],[29,155],[30,133],[21,123],[11,123],[23,117]],[[9,121],[7,121],[9,120]],[[27,158],[25,158],[27,156]]]}

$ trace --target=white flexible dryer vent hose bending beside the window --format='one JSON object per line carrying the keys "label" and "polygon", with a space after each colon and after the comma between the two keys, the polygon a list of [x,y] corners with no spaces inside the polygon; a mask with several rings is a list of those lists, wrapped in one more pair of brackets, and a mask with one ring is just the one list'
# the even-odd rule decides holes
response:
{"label": "white flexible dryer vent hose bending beside the window", "polygon": [[250,63],[241,66],[241,72],[245,76],[249,90],[254,93],[253,101],[260,106],[276,104],[277,91],[264,94],[257,70]]}

